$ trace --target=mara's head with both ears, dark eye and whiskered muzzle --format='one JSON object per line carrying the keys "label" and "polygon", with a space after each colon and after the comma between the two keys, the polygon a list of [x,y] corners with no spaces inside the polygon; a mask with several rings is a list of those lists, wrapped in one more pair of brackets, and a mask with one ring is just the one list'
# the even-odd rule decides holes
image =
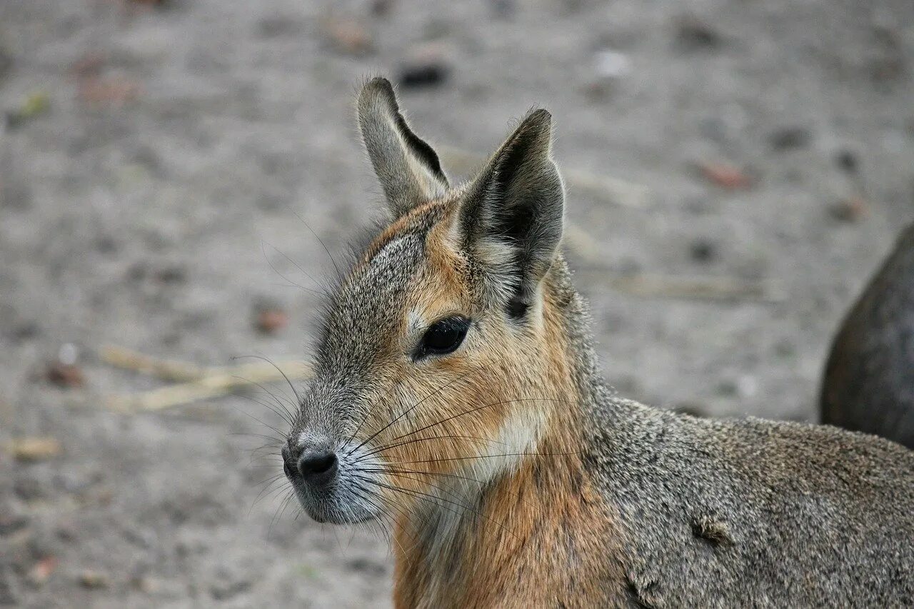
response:
{"label": "mara's head with both ears, dark eye and whiskered muzzle", "polygon": [[549,113],[528,113],[452,187],[387,80],[357,112],[388,222],[330,297],[282,447],[305,511],[334,523],[486,484],[542,450],[574,400],[565,324],[579,300],[558,250]]}

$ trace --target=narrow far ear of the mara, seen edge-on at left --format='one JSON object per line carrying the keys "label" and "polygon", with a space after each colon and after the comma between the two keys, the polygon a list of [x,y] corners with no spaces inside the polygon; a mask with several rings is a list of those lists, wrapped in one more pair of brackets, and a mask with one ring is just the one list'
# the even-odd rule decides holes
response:
{"label": "narrow far ear of the mara, seen edge-on at left", "polygon": [[394,218],[447,191],[438,155],[410,131],[387,79],[375,78],[362,87],[358,127]]}

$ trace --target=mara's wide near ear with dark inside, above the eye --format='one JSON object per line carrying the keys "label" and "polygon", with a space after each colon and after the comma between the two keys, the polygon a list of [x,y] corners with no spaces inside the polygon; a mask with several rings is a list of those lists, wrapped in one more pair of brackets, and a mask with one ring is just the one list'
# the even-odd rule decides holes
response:
{"label": "mara's wide near ear with dark inside, above the eye", "polygon": [[522,317],[562,238],[565,189],[552,161],[552,116],[529,113],[467,190],[458,239]]}

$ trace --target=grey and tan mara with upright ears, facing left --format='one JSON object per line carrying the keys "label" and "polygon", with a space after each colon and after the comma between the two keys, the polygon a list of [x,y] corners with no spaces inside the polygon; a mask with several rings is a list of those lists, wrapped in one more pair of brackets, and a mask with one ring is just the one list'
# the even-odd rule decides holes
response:
{"label": "grey and tan mara with upright ears, facing left", "polygon": [[914,604],[914,453],[600,379],[548,112],[459,186],[387,80],[358,122],[388,223],[327,304],[282,458],[312,518],[391,533],[398,607]]}

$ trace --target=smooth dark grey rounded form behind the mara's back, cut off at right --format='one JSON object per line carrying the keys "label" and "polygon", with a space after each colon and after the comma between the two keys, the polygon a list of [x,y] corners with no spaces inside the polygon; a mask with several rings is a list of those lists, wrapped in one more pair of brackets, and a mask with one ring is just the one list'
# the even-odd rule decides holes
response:
{"label": "smooth dark grey rounded form behind the mara's back, cut off at right", "polygon": [[914,225],[834,337],[822,422],[914,448]]}

